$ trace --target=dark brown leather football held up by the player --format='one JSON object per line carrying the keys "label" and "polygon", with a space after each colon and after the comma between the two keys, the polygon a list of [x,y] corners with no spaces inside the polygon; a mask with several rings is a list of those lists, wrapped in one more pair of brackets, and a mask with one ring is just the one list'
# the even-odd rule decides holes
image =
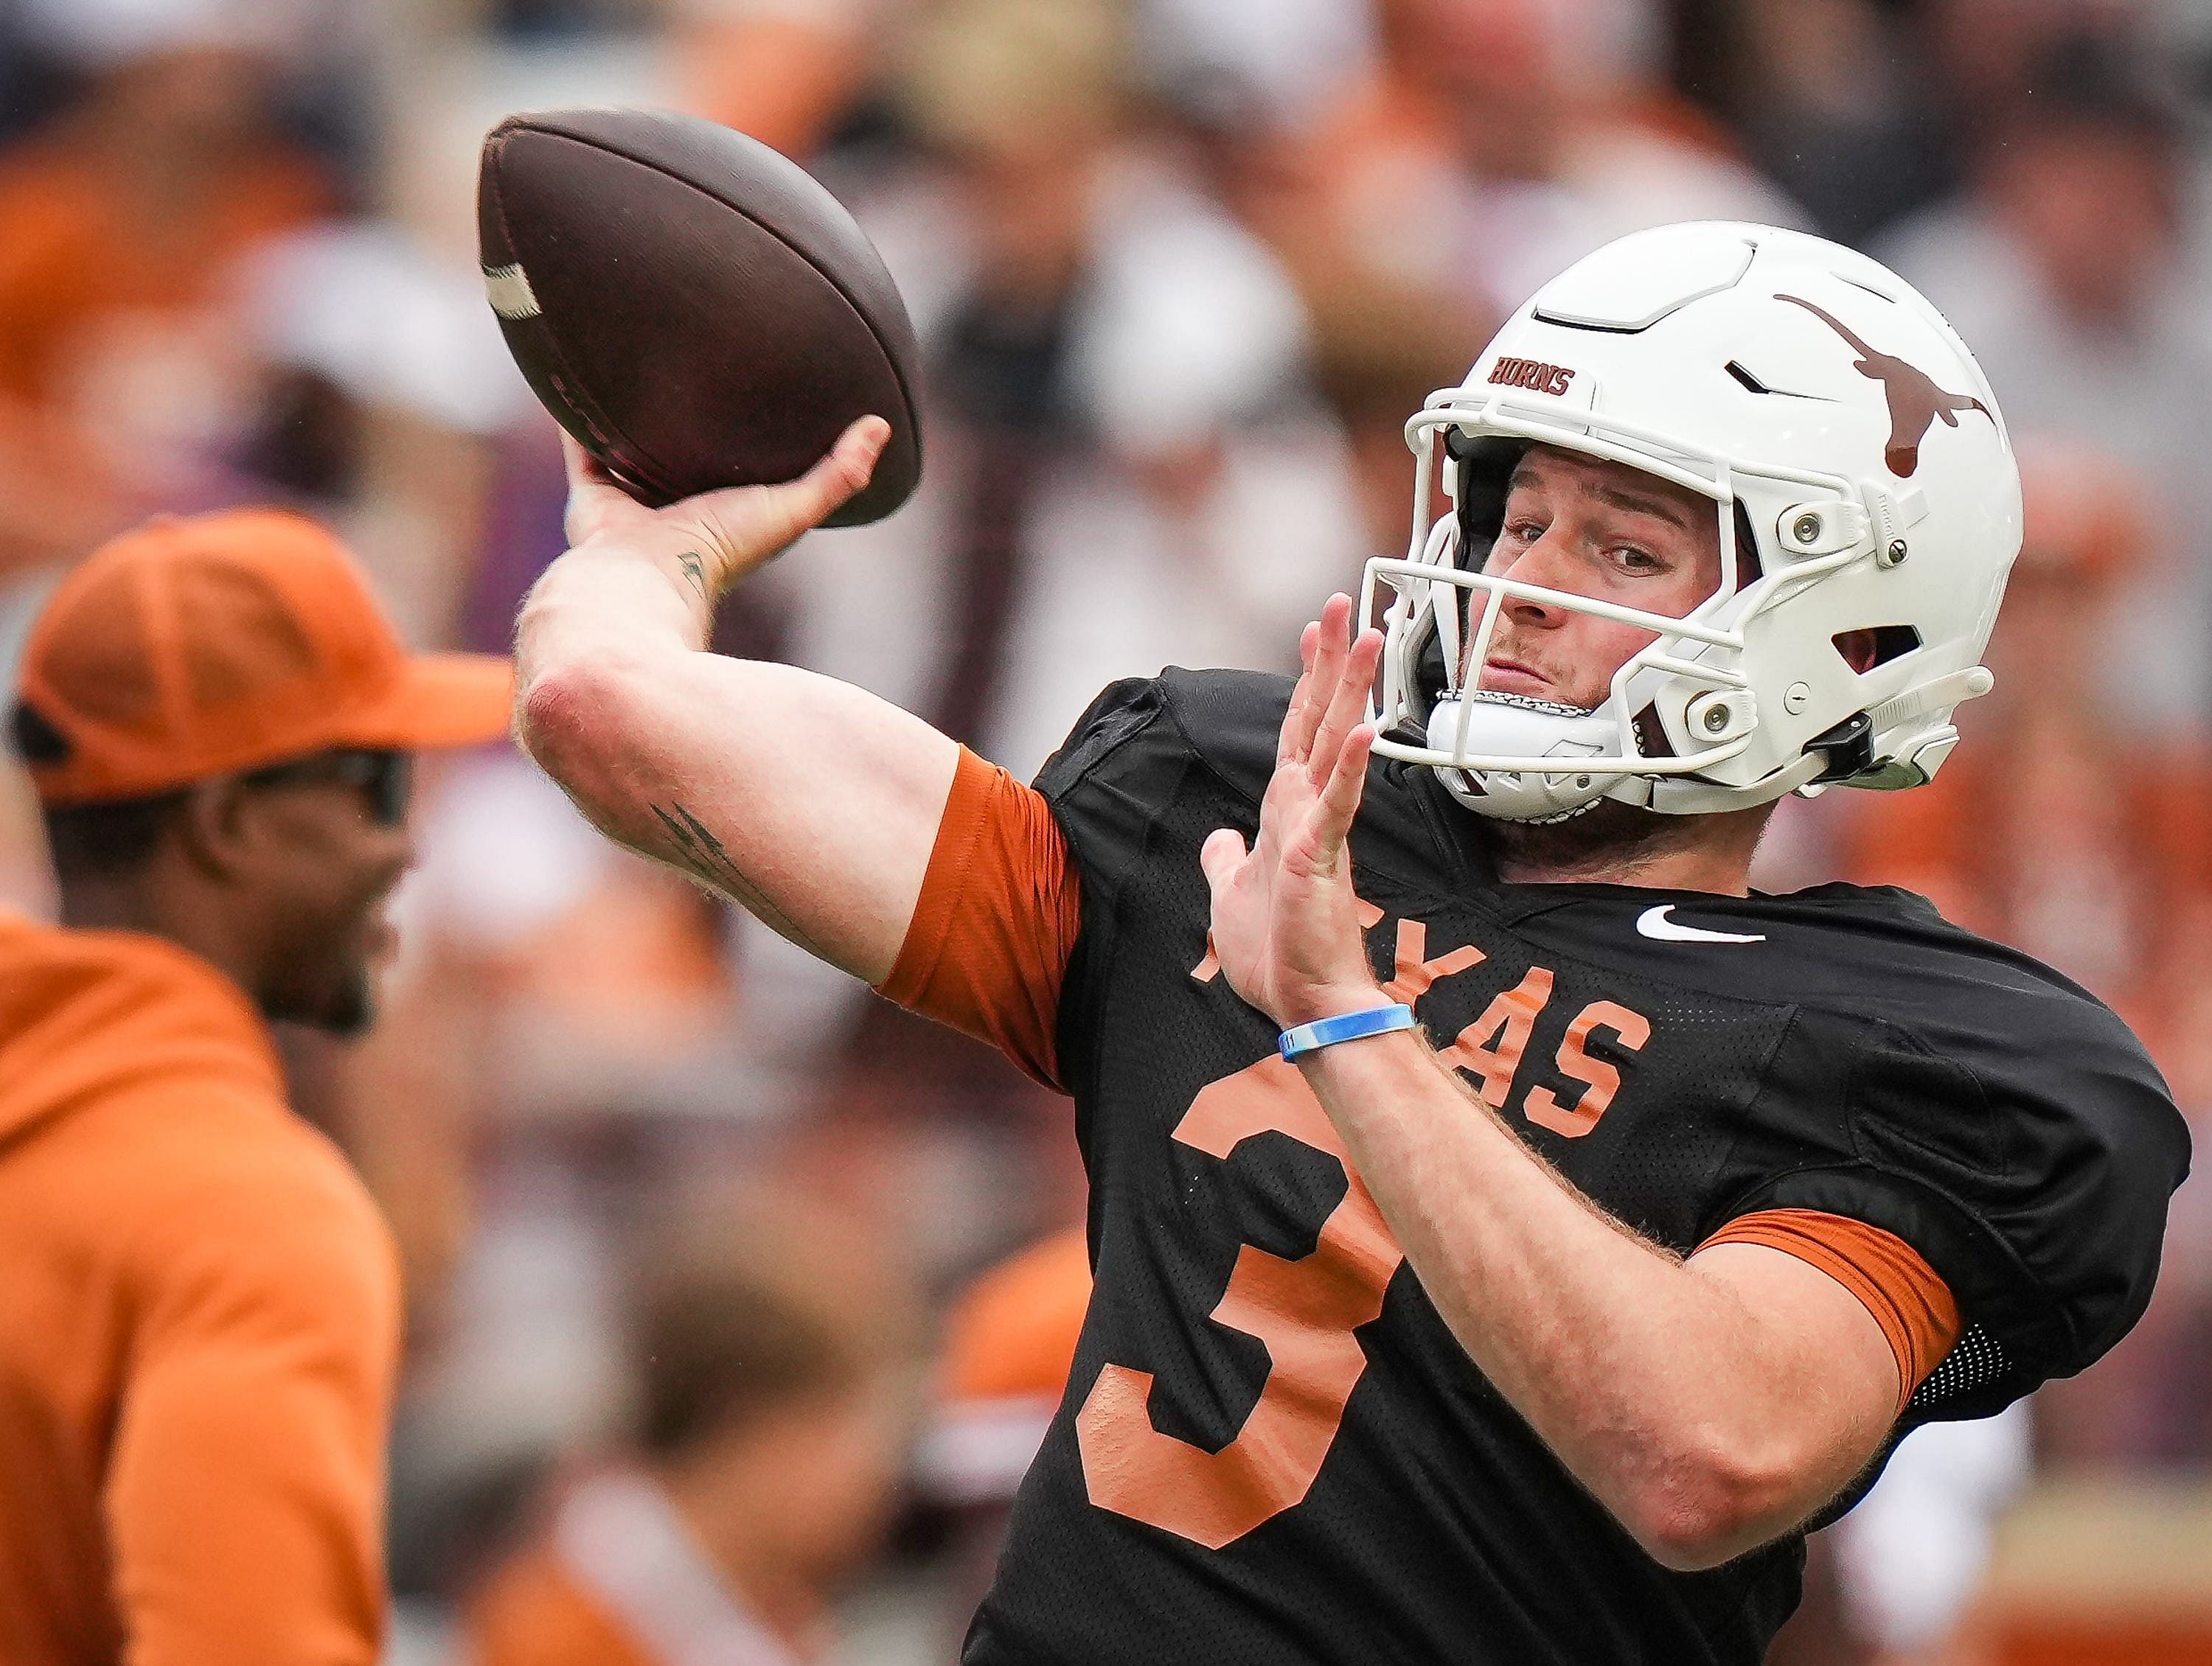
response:
{"label": "dark brown leather football held up by the player", "polygon": [[825,524],[883,520],[914,491],[914,325],[796,162],[692,115],[511,115],[484,137],[476,223],[524,378],[637,498],[790,480],[869,414],[891,440]]}

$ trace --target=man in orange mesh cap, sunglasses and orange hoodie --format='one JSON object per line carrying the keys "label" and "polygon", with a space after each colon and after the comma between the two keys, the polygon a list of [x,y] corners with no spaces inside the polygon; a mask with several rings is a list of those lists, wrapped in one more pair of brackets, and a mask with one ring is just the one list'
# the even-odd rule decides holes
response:
{"label": "man in orange mesh cap, sunglasses and orange hoodie", "polygon": [[369,1666],[398,1272],[268,1020],[358,1031],[407,766],[509,666],[409,657],[321,527],[159,520],[46,604],[13,739],[62,925],[0,918],[0,1659]]}

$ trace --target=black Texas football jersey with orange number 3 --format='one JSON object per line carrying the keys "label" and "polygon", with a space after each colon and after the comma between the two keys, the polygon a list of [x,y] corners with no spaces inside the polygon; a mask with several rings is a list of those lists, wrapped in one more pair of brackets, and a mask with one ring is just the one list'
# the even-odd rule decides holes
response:
{"label": "black Texas football jersey with orange number 3", "polygon": [[[1803,1540],[1652,1562],[1453,1341],[1208,960],[1199,845],[1259,825],[1287,697],[1117,684],[1037,779],[1082,874],[1057,1044],[1097,1285],[964,1659],[1756,1662]],[[1376,763],[1352,863],[1378,973],[1615,1217],[1690,1252],[1823,1210],[1942,1274],[1964,1334],[1900,1434],[2079,1372],[2141,1314],[2188,1137],[2055,971],[1896,889],[1500,883],[1418,766]]]}

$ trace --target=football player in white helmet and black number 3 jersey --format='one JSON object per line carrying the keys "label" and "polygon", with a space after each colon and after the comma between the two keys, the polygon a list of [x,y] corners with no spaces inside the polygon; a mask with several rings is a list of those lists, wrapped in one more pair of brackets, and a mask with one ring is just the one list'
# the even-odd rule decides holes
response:
{"label": "football player in white helmet and black number 3 jersey", "polygon": [[2126,1027],[1909,894],[1747,887],[1989,688],[2020,478],[1896,274],[1599,250],[1413,418],[1409,558],[1296,686],[1117,684],[1035,788],[701,653],[883,434],[661,511],[577,460],[522,732],[1075,1097],[1097,1288],[969,1662],[1756,1662],[1907,1429],[2141,1314],[2188,1139]]}

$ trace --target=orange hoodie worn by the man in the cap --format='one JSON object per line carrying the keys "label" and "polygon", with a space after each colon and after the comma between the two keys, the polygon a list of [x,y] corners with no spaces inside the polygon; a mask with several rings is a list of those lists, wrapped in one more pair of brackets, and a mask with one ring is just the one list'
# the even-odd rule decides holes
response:
{"label": "orange hoodie worn by the man in the cap", "polygon": [[369,1666],[398,1261],[246,996],[0,918],[0,1662]]}

